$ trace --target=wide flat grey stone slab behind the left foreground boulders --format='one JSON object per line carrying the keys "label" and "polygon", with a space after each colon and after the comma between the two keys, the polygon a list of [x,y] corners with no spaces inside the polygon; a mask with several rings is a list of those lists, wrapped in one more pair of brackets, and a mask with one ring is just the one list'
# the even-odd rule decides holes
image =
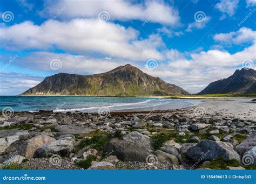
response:
{"label": "wide flat grey stone slab behind the left foreground boulders", "polygon": [[56,130],[62,132],[63,134],[78,135],[80,137],[84,137],[88,133],[96,131],[95,129],[76,126],[75,124],[56,126]]}

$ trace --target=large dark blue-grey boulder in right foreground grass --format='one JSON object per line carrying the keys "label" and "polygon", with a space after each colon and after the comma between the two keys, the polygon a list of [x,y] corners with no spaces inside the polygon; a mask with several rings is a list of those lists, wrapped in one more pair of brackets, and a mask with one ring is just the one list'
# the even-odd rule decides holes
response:
{"label": "large dark blue-grey boulder in right foreground grass", "polygon": [[[200,140],[196,146],[188,148],[186,154],[188,158],[194,161],[199,158],[205,161],[213,160],[218,157],[240,161],[239,154],[221,141]],[[202,157],[202,155],[204,155],[204,157]]]}

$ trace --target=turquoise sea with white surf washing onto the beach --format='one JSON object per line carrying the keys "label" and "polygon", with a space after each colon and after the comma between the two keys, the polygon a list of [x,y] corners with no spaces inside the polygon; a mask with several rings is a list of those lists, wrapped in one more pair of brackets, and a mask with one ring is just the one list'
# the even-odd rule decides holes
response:
{"label": "turquoise sea with white surf washing onto the beach", "polygon": [[14,111],[82,111],[97,112],[99,108],[110,111],[163,110],[190,107],[198,100],[163,99],[150,97],[93,97],[93,96],[0,96],[0,109],[11,107]]}

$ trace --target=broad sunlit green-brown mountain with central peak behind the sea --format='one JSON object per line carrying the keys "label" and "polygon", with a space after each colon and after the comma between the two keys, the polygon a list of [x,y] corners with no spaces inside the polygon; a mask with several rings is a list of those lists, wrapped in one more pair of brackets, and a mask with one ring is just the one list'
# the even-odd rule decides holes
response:
{"label": "broad sunlit green-brown mountain with central peak behind the sea", "polygon": [[21,95],[161,96],[181,94],[189,93],[127,64],[102,74],[59,73],[52,75]]}

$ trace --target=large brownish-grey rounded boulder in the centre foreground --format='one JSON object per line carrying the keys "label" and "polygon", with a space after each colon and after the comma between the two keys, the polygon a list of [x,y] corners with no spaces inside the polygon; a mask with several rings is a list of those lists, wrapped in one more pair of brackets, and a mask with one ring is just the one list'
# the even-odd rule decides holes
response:
{"label": "large brownish-grey rounded boulder in the centre foreground", "polygon": [[141,144],[119,139],[110,140],[106,144],[104,152],[111,152],[112,155],[116,155],[117,158],[122,161],[140,162],[146,162],[147,155],[151,154]]}

